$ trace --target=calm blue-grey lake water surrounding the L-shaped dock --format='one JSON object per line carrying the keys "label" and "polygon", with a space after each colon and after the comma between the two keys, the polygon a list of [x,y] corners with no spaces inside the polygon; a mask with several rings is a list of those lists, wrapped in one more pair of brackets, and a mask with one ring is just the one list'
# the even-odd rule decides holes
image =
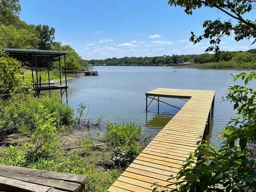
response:
{"label": "calm blue-grey lake water surrounding the L-shaped dock", "polygon": [[[230,74],[242,72],[223,69],[107,66],[95,67],[95,70],[98,70],[99,76],[81,75],[68,82],[68,101],[74,109],[83,102],[90,121],[102,116],[103,128],[101,131],[97,130],[99,134],[106,131],[104,125],[108,122],[134,122],[143,127],[149,138],[154,137],[178,112],[178,109],[161,103],[158,115],[157,102],[153,101],[146,115],[145,92],[157,87],[215,90],[214,118],[207,139],[216,145],[219,143],[218,133],[234,116],[233,106],[229,102],[222,102],[222,95],[230,84],[234,84]],[[255,84],[253,87],[256,87]],[[180,99],[162,100],[179,108],[186,103]]]}

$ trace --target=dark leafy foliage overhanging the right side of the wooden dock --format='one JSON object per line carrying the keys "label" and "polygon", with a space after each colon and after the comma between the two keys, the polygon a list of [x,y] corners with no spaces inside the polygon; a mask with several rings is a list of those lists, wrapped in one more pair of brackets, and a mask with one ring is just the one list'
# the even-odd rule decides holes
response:
{"label": "dark leafy foliage overhanging the right side of the wooden dock", "polygon": [[[256,72],[234,74],[245,85],[256,80]],[[234,104],[237,116],[220,133],[221,147],[203,145],[183,164],[177,176],[170,178],[166,191],[255,191],[256,171],[247,143],[256,135],[256,91],[241,85],[230,85],[226,100]],[[158,190],[158,187],[155,187]]]}

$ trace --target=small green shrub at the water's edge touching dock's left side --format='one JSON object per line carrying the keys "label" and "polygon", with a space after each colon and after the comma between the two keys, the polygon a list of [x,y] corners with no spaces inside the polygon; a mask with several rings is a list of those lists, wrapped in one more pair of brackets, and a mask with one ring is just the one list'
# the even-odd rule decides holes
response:
{"label": "small green shrub at the water's edge touching dock's left side", "polygon": [[114,148],[114,156],[121,157],[118,166],[126,168],[142,151],[146,138],[140,126],[130,124],[107,124],[105,135],[108,145]]}

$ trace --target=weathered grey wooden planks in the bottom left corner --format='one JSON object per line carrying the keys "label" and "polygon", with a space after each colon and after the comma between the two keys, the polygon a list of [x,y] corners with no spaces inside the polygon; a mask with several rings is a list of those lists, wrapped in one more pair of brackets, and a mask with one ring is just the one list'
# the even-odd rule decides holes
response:
{"label": "weathered grey wooden planks in the bottom left corner", "polygon": [[87,176],[0,164],[0,191],[84,191]]}

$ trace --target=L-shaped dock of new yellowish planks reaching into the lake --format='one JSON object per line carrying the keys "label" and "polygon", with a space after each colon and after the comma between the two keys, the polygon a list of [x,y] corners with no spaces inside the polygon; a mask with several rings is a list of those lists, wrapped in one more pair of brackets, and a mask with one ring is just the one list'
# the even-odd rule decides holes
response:
{"label": "L-shaped dock of new yellowish planks reaching into the lake", "polygon": [[[169,123],[156,135],[142,153],[108,189],[109,192],[151,192],[153,183],[161,190],[166,180],[176,175],[189,153],[197,148],[201,135],[209,132],[213,115],[214,91],[176,90],[158,88],[146,93],[146,98],[159,97],[189,99]],[[153,100],[154,100],[153,99]],[[151,102],[150,102],[151,103]],[[149,103],[149,105],[150,105]],[[149,105],[146,103],[146,109]]]}

